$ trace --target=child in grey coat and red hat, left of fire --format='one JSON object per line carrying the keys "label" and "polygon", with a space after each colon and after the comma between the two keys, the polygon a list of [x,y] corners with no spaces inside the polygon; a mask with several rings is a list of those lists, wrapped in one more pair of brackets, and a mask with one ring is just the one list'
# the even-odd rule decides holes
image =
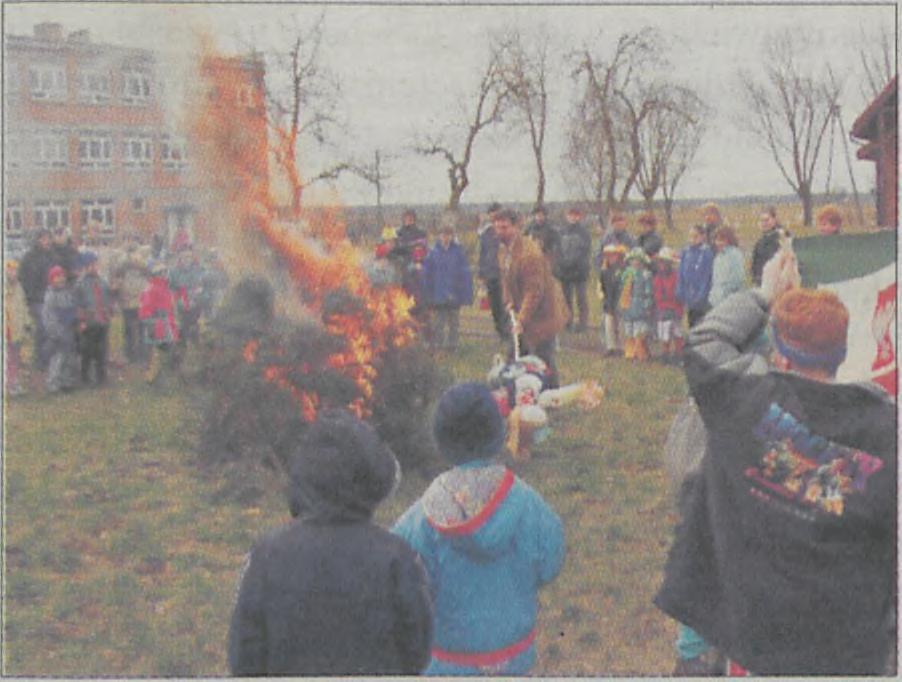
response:
{"label": "child in grey coat and red hat, left of fire", "polygon": [[75,365],[78,343],[75,336],[77,311],[75,297],[69,288],[66,271],[54,265],[47,273],[47,293],[41,322],[50,365],[47,369],[47,391],[71,391],[77,384]]}

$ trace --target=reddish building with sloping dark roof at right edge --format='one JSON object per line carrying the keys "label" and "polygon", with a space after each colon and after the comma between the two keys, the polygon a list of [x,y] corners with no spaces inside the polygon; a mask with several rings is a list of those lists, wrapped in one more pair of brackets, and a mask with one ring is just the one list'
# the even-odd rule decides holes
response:
{"label": "reddish building with sloping dark roof at right edge", "polygon": [[899,79],[894,77],[852,125],[852,137],[864,143],[858,158],[876,164],[877,224],[881,227],[899,224],[898,92]]}

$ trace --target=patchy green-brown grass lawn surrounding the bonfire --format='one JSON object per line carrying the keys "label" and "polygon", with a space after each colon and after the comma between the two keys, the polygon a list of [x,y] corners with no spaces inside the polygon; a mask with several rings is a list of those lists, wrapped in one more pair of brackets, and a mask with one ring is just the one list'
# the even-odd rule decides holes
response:
{"label": "patchy green-brown grass lawn surrounding the bonfire", "polygon": [[[442,361],[480,379],[498,350],[467,337]],[[566,565],[542,592],[535,672],[666,673],[675,628],[651,599],[675,521],[660,450],[682,376],[579,351],[563,351],[560,367],[565,382],[595,377],[607,395],[596,410],[553,414],[552,436],[514,465],[567,533]],[[227,673],[239,567],[288,512],[278,487],[242,505],[222,494],[224,476],[197,468],[197,399],[114,370],[103,389],[7,403],[5,675]],[[378,520],[391,523],[426,483],[407,476]]]}

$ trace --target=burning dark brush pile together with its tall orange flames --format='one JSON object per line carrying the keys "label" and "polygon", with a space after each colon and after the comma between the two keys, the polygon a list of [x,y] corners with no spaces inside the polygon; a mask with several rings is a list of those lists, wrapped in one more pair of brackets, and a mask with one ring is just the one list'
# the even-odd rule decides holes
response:
{"label": "burning dark brush pile together with its tall orange flames", "polygon": [[444,383],[417,343],[413,301],[374,281],[338,209],[304,209],[296,140],[271,121],[254,132],[233,66],[206,50],[209,95],[188,122],[206,182],[221,188],[216,238],[240,280],[211,324],[204,459],[283,469],[291,442],[330,407],[371,420],[402,464],[428,459],[424,412]]}

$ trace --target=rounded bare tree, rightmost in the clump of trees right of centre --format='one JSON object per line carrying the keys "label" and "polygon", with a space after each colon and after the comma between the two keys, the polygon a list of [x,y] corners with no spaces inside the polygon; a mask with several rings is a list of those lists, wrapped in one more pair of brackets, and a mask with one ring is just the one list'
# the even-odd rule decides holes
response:
{"label": "rounded bare tree, rightmost in the clump of trees right of centre", "polygon": [[659,89],[656,106],[640,127],[636,188],[649,208],[655,194],[661,191],[670,229],[676,187],[695,158],[710,114],[710,108],[695,91],[667,85]]}

